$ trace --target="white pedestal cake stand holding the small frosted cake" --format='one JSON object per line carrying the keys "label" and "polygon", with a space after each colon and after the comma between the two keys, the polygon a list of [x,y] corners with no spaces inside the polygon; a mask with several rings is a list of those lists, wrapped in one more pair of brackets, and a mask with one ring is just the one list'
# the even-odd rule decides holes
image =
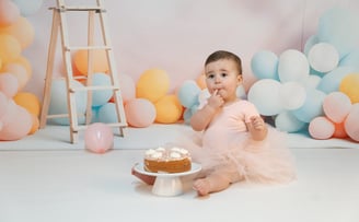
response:
{"label": "white pedestal cake stand holding the small frosted cake", "polygon": [[173,197],[178,196],[183,194],[183,185],[181,177],[187,176],[190,174],[195,174],[201,170],[200,164],[198,163],[192,163],[190,171],[183,172],[183,173],[151,173],[147,172],[143,168],[143,164],[139,163],[135,165],[135,171],[149,175],[149,176],[155,176],[155,180],[152,187],[152,194],[158,196],[166,196],[166,197]]}

